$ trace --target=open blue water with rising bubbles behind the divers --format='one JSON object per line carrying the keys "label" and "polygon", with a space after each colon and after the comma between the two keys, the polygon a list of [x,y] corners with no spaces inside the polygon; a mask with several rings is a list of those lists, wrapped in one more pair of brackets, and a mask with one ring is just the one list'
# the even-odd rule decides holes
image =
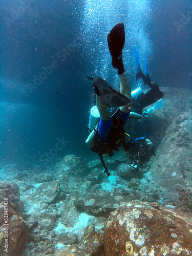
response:
{"label": "open blue water with rising bubbles behind the divers", "polygon": [[100,75],[117,88],[106,38],[118,22],[125,26],[132,89],[138,87],[134,45],[143,70],[146,53],[159,86],[191,89],[191,14],[182,23],[189,0],[24,2],[1,1],[2,161],[38,161],[63,138],[57,157],[91,154],[84,142],[95,96],[86,76]]}

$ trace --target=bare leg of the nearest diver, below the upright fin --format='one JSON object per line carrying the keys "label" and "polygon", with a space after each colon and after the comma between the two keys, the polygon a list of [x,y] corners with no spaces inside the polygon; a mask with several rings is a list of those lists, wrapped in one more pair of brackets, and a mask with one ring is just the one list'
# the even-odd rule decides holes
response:
{"label": "bare leg of the nearest diver, below the upright fin", "polygon": [[125,106],[120,106],[120,110],[124,113],[130,112],[131,111],[131,106],[132,106],[132,95],[131,95],[131,87],[130,83],[127,80],[127,77],[125,75],[125,72],[122,74],[119,74],[119,84],[120,84],[120,93],[126,96],[131,100],[130,103],[128,103]]}

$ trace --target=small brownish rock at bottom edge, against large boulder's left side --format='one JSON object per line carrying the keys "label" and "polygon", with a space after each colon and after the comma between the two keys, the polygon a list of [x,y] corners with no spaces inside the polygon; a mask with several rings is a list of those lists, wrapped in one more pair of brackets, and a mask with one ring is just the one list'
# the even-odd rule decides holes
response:
{"label": "small brownish rock at bottom edge, against large boulder's left side", "polygon": [[80,248],[89,256],[104,256],[103,239],[95,231],[94,226],[87,226],[80,241]]}

